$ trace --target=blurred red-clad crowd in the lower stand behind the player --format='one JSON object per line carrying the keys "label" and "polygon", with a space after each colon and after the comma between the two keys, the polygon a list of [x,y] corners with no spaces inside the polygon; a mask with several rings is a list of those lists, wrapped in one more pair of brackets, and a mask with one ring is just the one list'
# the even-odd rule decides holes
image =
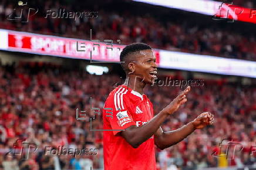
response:
{"label": "blurred red-clad crowd in the lower stand behind the player", "polygon": [[[0,66],[0,169],[90,169],[90,166],[102,169],[103,133],[92,131],[103,129],[102,114],[95,114],[90,108],[100,108],[102,113],[105,100],[117,82],[121,83],[120,77],[114,74],[96,76],[46,63]],[[250,155],[250,148],[256,145],[256,89],[221,82],[204,81],[203,86],[192,86],[184,107],[161,126],[164,131],[171,131],[205,111],[215,116],[214,125],[196,130],[163,151],[156,148],[157,169],[255,164],[255,152]],[[157,114],[180,91],[176,86],[147,86],[144,93]],[[77,109],[79,118],[84,119],[76,118]],[[22,146],[15,144],[18,139],[37,145],[38,151],[32,150],[28,159],[21,159],[22,154],[14,153],[14,147]],[[227,149],[227,141],[244,147],[235,151],[234,159],[221,156]],[[43,154],[45,147],[59,146],[97,150],[94,155],[80,154],[75,158],[69,154]]]}

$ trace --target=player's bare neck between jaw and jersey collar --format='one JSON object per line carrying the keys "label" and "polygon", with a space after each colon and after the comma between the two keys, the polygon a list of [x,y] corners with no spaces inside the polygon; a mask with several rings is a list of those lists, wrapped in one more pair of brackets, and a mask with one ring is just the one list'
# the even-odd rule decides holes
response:
{"label": "player's bare neck between jaw and jersey collar", "polygon": [[135,79],[134,77],[126,77],[123,85],[129,87],[134,91],[137,91],[140,94],[143,94],[146,83],[143,83],[141,80]]}

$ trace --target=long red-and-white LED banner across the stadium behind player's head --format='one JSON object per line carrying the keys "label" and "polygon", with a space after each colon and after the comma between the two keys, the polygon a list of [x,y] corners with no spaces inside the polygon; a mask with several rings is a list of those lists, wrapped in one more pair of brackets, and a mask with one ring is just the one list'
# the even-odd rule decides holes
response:
{"label": "long red-and-white LED banner across the stadium behind player's head", "polygon": [[[93,62],[120,62],[124,47],[109,43],[111,40],[106,43],[5,29],[0,29],[0,38],[1,50],[86,60],[91,60],[92,53]],[[256,78],[256,62],[160,49],[154,49],[154,55],[160,68]]]}

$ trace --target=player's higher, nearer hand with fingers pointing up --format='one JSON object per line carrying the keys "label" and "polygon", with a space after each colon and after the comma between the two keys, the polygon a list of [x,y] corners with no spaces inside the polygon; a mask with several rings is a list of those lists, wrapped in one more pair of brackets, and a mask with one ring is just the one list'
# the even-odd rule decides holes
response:
{"label": "player's higher, nearer hand with fingers pointing up", "polygon": [[168,106],[166,106],[166,108],[164,108],[163,111],[169,114],[173,114],[175,111],[177,111],[178,108],[181,106],[181,104],[186,103],[187,101],[186,94],[189,91],[190,91],[190,86],[187,86],[187,88],[180,95],[174,98],[174,100],[171,101],[171,103]]}

